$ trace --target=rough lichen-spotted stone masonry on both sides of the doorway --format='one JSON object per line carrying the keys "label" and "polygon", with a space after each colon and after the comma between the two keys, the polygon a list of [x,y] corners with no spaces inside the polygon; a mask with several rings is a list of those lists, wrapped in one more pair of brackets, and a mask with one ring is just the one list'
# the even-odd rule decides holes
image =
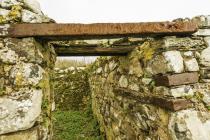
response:
{"label": "rough lichen-spotted stone masonry on both sides of the doorway", "polygon": [[[192,35],[83,41],[136,46],[90,67],[93,111],[108,140],[210,139],[210,16],[191,21],[200,28]],[[34,0],[0,0],[0,24],[49,22]],[[1,140],[52,139],[54,62],[45,42],[0,39]]]}

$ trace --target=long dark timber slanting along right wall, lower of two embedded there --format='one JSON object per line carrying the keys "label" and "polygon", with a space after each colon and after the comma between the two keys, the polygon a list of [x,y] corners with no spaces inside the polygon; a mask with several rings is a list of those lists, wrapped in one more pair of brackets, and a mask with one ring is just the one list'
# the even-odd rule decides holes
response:
{"label": "long dark timber slanting along right wall, lower of two embedded there", "polygon": [[132,98],[143,104],[152,104],[170,111],[179,111],[193,107],[190,100],[187,99],[170,99],[166,97],[146,96],[139,92],[128,90],[125,88],[115,88],[115,94]]}

